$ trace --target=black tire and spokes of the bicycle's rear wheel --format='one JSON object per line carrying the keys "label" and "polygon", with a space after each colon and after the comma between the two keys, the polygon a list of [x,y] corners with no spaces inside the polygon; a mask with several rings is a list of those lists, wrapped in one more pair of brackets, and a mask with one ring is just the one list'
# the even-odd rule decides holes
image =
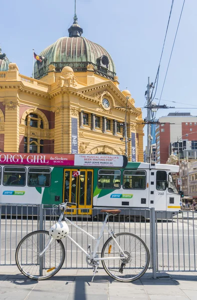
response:
{"label": "black tire and spokes of the bicycle's rear wheel", "polygon": [[[140,260],[141,260],[142,265],[140,266],[140,269],[141,269],[140,273],[136,274],[136,275],[131,274],[130,277],[129,277],[128,274],[127,274],[127,276],[125,276],[124,274],[122,274],[120,272],[120,270],[124,271],[126,269],[126,268],[124,268],[124,266],[126,266],[128,264],[130,265],[130,267],[127,266],[127,269],[134,270],[135,272],[136,272],[137,269],[139,269],[136,266],[131,267],[132,260],[134,260],[135,264],[136,264],[136,260],[139,259],[139,258],[137,258],[136,251],[134,252],[134,254],[132,252],[133,250],[131,250],[130,252],[128,251],[129,244],[126,245],[127,248],[125,249],[124,248],[125,245],[121,246],[121,244],[119,243],[122,250],[124,252],[126,251],[126,253],[128,254],[128,257],[129,257],[128,262],[126,262],[125,259],[121,259],[121,258],[119,258],[119,259],[110,259],[110,260],[103,259],[102,260],[102,265],[103,265],[103,268],[105,269],[105,271],[108,273],[108,275],[111,276],[113,279],[116,279],[116,280],[121,281],[121,282],[131,282],[131,281],[139,279],[146,272],[146,270],[148,268],[148,265],[149,265],[149,262],[150,262],[150,253],[149,253],[148,247],[145,244],[145,242],[139,236],[137,236],[133,233],[130,233],[130,232],[117,233],[116,234],[116,241],[117,242],[118,242],[118,240],[120,241],[121,236],[123,237],[125,235],[130,236],[131,239],[134,238],[134,240],[135,240],[134,248],[135,249],[136,249],[136,245],[137,245],[138,242],[140,243],[140,247],[144,248],[144,254],[143,255],[145,255],[145,263],[143,263],[142,257],[141,257]],[[118,240],[117,240],[117,238],[118,238]],[[137,243],[136,243],[136,241],[137,241]],[[124,238],[124,244],[125,244],[125,238]],[[110,245],[111,245],[111,247],[110,247]],[[107,246],[108,246],[108,249],[107,249]],[[113,247],[114,247],[114,249],[113,249]],[[103,248],[102,248],[102,251],[101,251],[101,257],[102,258],[110,257],[111,254],[113,254],[112,256],[115,256],[115,253],[114,253],[115,251],[116,251],[116,254],[118,252],[118,255],[120,255],[121,252],[120,252],[119,248],[117,248],[118,250],[115,250],[116,247],[117,247],[117,245],[113,241],[113,238],[109,237],[103,245]],[[110,250],[109,250],[109,248],[110,248]],[[106,251],[106,249],[107,249],[107,251]],[[112,249],[113,253],[111,253],[111,249]],[[110,251],[110,253],[109,253],[109,251]],[[108,254],[108,256],[107,256],[107,254]],[[139,253],[139,254],[142,255],[142,253]],[[110,266],[111,261],[116,261],[116,262],[118,261],[117,266],[115,266],[115,263],[113,263],[113,266]],[[125,265],[122,265],[122,264],[125,264]],[[122,269],[121,269],[121,267],[122,267]],[[117,276],[112,271],[115,272],[115,273],[116,272],[121,273],[121,275]]]}

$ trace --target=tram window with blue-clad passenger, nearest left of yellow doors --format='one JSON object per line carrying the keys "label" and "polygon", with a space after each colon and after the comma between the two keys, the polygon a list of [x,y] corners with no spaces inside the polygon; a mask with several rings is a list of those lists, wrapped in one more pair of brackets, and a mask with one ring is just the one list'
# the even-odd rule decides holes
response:
{"label": "tram window with blue-clad passenger, nearest left of yellow doors", "polygon": [[30,167],[28,170],[29,186],[50,186],[51,169]]}

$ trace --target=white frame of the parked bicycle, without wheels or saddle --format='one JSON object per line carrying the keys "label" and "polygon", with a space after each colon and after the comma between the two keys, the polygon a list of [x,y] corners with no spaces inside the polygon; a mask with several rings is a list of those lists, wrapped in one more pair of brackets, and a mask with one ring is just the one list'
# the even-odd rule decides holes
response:
{"label": "white frame of the parked bicycle, without wheels or saddle", "polygon": [[[101,241],[101,237],[103,236],[103,231],[105,229],[105,226],[106,226],[107,219],[108,219],[109,215],[110,214],[107,213],[107,215],[105,217],[105,220],[103,222],[103,226],[102,226],[101,231],[100,231],[99,238],[95,238],[93,235],[91,235],[90,233],[88,233],[87,231],[85,231],[84,229],[82,229],[81,227],[79,227],[78,225],[76,225],[74,222],[72,222],[71,220],[69,220],[67,217],[65,217],[64,212],[61,213],[58,222],[61,222],[62,219],[64,218],[64,220],[66,220],[67,222],[69,222],[70,224],[72,224],[73,226],[75,226],[77,229],[79,229],[80,231],[82,231],[83,233],[85,233],[86,235],[88,235],[89,237],[91,237],[93,240],[97,241],[93,253],[91,253],[91,252],[88,253],[69,234],[67,235],[67,238],[70,239],[89,259],[93,259],[94,260],[94,258],[95,258],[95,260],[109,260],[109,259],[123,259],[123,258],[126,258],[127,255],[124,253],[124,251],[122,250],[122,248],[120,247],[120,245],[116,241],[116,238],[114,237],[114,232],[112,230],[110,230],[110,229],[107,229],[108,233],[113,238],[113,240],[116,243],[117,247],[120,249],[122,255],[121,256],[113,256],[113,257],[96,257],[96,253],[97,253],[100,241]],[[50,246],[51,242],[53,241],[53,239],[54,238],[51,236],[48,244],[46,245],[46,247],[44,248],[44,250],[39,254],[39,256],[42,256],[45,253],[45,251],[49,248],[49,246]]]}

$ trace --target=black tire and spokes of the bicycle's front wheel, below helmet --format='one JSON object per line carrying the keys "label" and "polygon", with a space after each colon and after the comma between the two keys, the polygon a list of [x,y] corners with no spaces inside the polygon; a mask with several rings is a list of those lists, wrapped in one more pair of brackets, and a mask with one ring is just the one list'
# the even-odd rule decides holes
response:
{"label": "black tire and spokes of the bicycle's front wheel, below helmet", "polygon": [[[39,242],[38,242],[38,240],[40,241],[40,239],[36,239],[36,242],[37,242],[37,244],[36,244],[36,246],[34,247],[34,249],[32,248],[31,250],[32,250],[32,254],[31,254],[31,257],[30,257],[30,259],[28,260],[28,251],[30,251],[30,247],[28,248],[28,246],[27,246],[27,249],[25,248],[25,251],[26,251],[26,253],[27,254],[24,254],[24,256],[26,255],[27,257],[26,257],[26,262],[24,262],[23,261],[23,258],[22,258],[22,255],[23,255],[23,252],[24,252],[24,249],[23,249],[23,245],[25,245],[25,242],[26,242],[26,240],[27,240],[27,244],[28,244],[28,239],[29,238],[31,238],[32,237],[32,246],[33,246],[33,241],[35,241],[35,239],[34,239],[34,235],[38,235],[38,234],[44,234],[45,235],[45,237],[48,237],[48,240],[49,240],[49,238],[50,238],[50,235],[49,235],[49,231],[47,231],[47,230],[36,230],[36,231],[33,231],[33,232],[31,232],[31,233],[28,233],[26,236],[24,236],[23,238],[22,238],[22,240],[19,242],[19,244],[18,244],[18,246],[17,246],[17,249],[16,249],[16,254],[15,254],[15,259],[16,259],[16,264],[17,264],[17,266],[18,266],[18,268],[19,268],[19,270],[25,275],[25,276],[27,276],[28,278],[31,278],[31,279],[35,279],[35,280],[45,280],[45,279],[48,279],[48,278],[50,278],[50,277],[52,277],[52,276],[54,276],[60,269],[61,269],[61,267],[62,267],[62,265],[63,265],[63,263],[64,263],[64,260],[65,260],[65,248],[64,248],[64,245],[63,245],[63,242],[62,242],[62,240],[60,240],[60,239],[54,239],[54,241],[52,241],[52,243],[51,243],[51,245],[49,246],[49,248],[46,250],[46,252],[43,254],[43,256],[42,257],[44,257],[44,259],[45,259],[45,261],[44,261],[44,263],[43,263],[43,265],[45,266],[44,268],[43,268],[43,271],[45,271],[45,273],[48,273],[48,274],[46,274],[46,275],[37,275],[37,274],[31,274],[30,273],[30,270],[31,270],[31,268],[32,268],[32,272],[33,272],[33,266],[35,265],[36,266],[36,269],[35,269],[35,271],[34,272],[39,272],[39,270],[38,270],[38,266],[39,266],[39,263],[40,263],[40,256],[38,255],[38,249],[40,249],[40,244],[39,244]],[[45,240],[45,242],[46,242],[46,240]],[[46,242],[46,244],[47,244],[47,242]],[[55,247],[55,248],[54,248]],[[57,265],[57,267],[55,267],[55,266],[53,266],[52,267],[52,265],[53,264],[51,264],[51,263],[53,263],[53,261],[51,260],[51,253],[52,253],[52,249],[54,248],[55,249],[55,251],[57,251],[56,250],[56,248],[57,247],[59,247],[60,248],[60,255],[61,255],[61,257],[60,257],[60,262],[59,262],[59,264]],[[44,246],[43,246],[43,248],[44,248]],[[37,250],[35,250],[35,249],[37,249]],[[50,251],[50,264],[51,265],[48,265],[49,264],[49,261],[47,261],[47,258],[46,258],[46,253],[48,253]],[[34,252],[36,252],[37,253],[37,255],[35,255],[36,257],[34,257],[33,256],[33,253]],[[21,256],[21,257],[20,257]],[[34,257],[34,258],[33,258]],[[52,256],[53,257],[53,256]],[[35,260],[35,258],[36,258],[36,260]],[[34,259],[34,260],[33,260]],[[55,253],[55,259],[56,259],[56,253]],[[30,263],[30,262],[31,263]],[[37,261],[37,262],[36,262]],[[34,263],[35,262],[35,263]],[[55,261],[55,264],[56,264],[56,261]],[[55,265],[54,264],[54,265]],[[25,268],[28,268],[29,269],[29,271],[27,271]],[[51,271],[50,271],[50,269],[51,269]],[[49,273],[50,272],[50,273]]]}

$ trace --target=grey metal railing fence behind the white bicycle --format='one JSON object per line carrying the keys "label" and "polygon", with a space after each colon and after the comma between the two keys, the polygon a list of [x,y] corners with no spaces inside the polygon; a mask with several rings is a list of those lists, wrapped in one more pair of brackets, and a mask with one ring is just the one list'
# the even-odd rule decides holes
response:
{"label": "grey metal railing fence behind the white bicycle", "polygon": [[[93,208],[94,214],[100,210]],[[67,217],[97,237],[105,214],[97,216],[79,215],[72,212]],[[93,214],[93,215],[94,215]],[[48,230],[58,219],[52,207],[40,205],[0,204],[0,265],[15,264],[15,251],[19,241],[29,232]],[[156,271],[196,270],[195,249],[197,213],[180,212],[170,219],[161,211],[151,209],[121,209],[121,214],[111,216],[108,226],[117,232],[132,232],[140,236],[150,250],[150,265],[153,277]],[[76,227],[69,224],[70,235],[83,248],[94,242]],[[100,243],[99,254],[108,238],[105,231]],[[66,249],[64,268],[88,268],[85,256],[67,238],[63,240]]]}

